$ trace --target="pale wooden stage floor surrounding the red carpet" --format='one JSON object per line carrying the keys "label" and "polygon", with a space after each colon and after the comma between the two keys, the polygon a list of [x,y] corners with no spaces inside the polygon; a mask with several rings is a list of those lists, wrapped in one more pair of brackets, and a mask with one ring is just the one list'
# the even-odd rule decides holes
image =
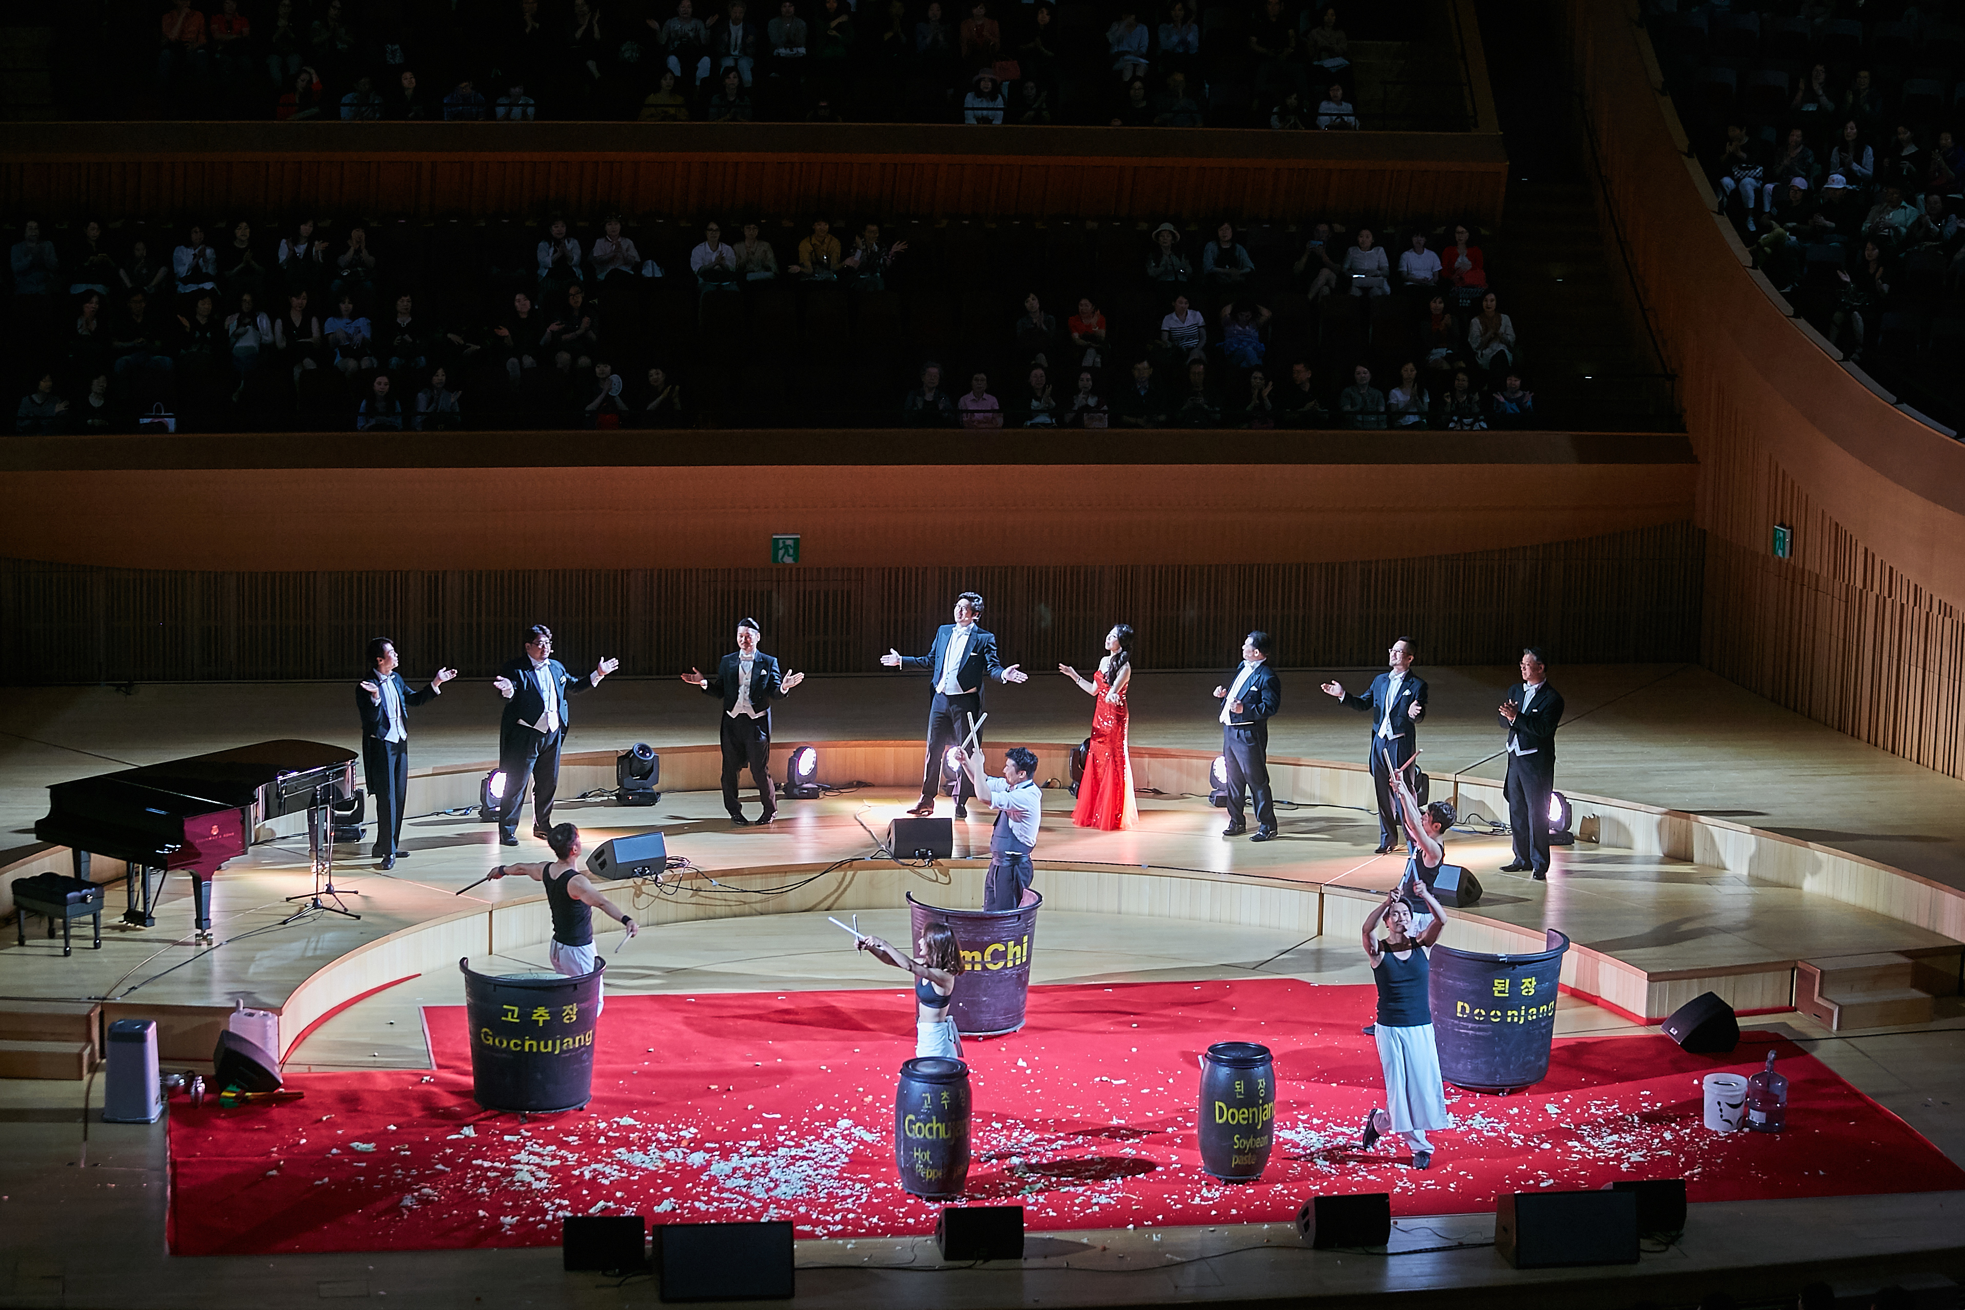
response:
{"label": "pale wooden stage floor surrounding the red carpet", "polygon": [[[1491,707],[1505,670],[1423,670],[1432,680],[1432,713],[1423,725],[1425,764],[1434,774],[1480,760],[1499,731]],[[1326,760],[1362,756],[1366,721],[1317,693],[1328,676],[1285,672],[1285,713],[1275,721],[1271,754]],[[1364,683],[1370,672],[1338,672]],[[1142,674],[1136,683],[1134,740],[1142,746],[1212,748],[1208,717],[1212,674]],[[1820,725],[1774,709],[1698,668],[1554,670],[1570,705],[1562,733],[1558,782],[1576,791],[1674,809],[1706,811],[1839,846],[1965,888],[1965,786],[1865,748]],[[926,682],[896,678],[821,678],[780,711],[780,742],[910,738],[920,731]],[[356,744],[352,683],[141,685],[136,695],[108,687],[45,687],[16,693],[18,713],[0,735],[0,827],[28,845],[45,811],[51,782],[143,764],[244,740],[309,737]],[[990,742],[1075,740],[1087,699],[1061,678],[1038,678],[992,697]],[[495,750],[497,699],[483,685],[452,685],[413,719],[413,768],[466,764]],[[676,682],[609,682],[574,711],[574,750],[613,750],[631,740],[658,748],[713,740],[707,699]],[[1476,776],[1495,778],[1488,764]],[[833,778],[821,768],[827,782]],[[705,870],[812,864],[870,848],[859,819],[884,829],[912,795],[872,788],[819,801],[784,801],[782,823],[731,829],[711,791],[672,791],[654,811],[627,811],[607,801],[570,801],[564,817],[601,833],[660,825],[674,854]],[[1047,793],[1039,866],[1153,866],[1242,878],[1315,882],[1330,888],[1385,888],[1399,860],[1372,854],[1376,819],[1348,807],[1301,807],[1283,813],[1283,841],[1254,846],[1218,837],[1220,811],[1191,797],[1142,797],[1134,833],[1098,835],[1069,827],[1069,797]],[[755,813],[755,799],[749,803]],[[947,813],[943,803],[941,813]],[[986,845],[986,809],[959,825],[959,843]],[[527,825],[529,827],[529,825]],[[309,917],[279,929],[283,901],[303,890],[305,852],[295,839],[257,846],[214,882],[218,949],[189,945],[189,894],[169,884],[159,925],[149,931],[104,931],[104,951],[26,951],[8,931],[0,939],[0,996],[134,994],[153,1004],[212,1006],[234,998],[277,1004],[297,982],[364,943],[454,911],[452,892],[501,858],[542,858],[542,843],[525,839],[503,852],[493,829],[472,817],[430,815],[407,825],[415,852],[393,874],[369,858],[344,858],[340,880],[362,896],[350,903],[362,921]],[[957,854],[963,846],[957,846]],[[18,850],[10,858],[18,858]],[[1558,852],[1548,884],[1495,872],[1507,858],[1499,839],[1458,837],[1452,858],[1476,870],[1488,888],[1478,913],[1521,927],[1560,925],[1580,945],[1615,955],[1645,970],[1751,966],[1814,951],[1835,955],[1939,945],[1936,933],[1796,888],[1757,880],[1751,870],[1672,862],[1611,846]],[[1124,868],[1114,868],[1124,876]],[[1039,872],[1039,888],[1043,874]],[[487,886],[470,894],[501,901],[536,892],[536,884]],[[623,894],[627,894],[623,890]],[[112,907],[120,905],[112,890]],[[646,894],[645,896],[652,896]],[[878,929],[900,923],[896,911],[863,911]],[[645,933],[609,974],[621,992],[707,992],[774,988],[892,986],[892,972],[841,949],[837,929],[817,913],[764,915],[711,923],[664,925]],[[619,941],[607,935],[607,945]],[[843,939],[841,939],[843,941]],[[1132,917],[1057,911],[1047,917],[1038,982],[1157,980],[1283,974],[1317,982],[1366,978],[1350,933],[1305,937],[1279,927],[1203,923],[1181,917]],[[495,960],[497,956],[489,956]],[[538,951],[505,956],[533,964]],[[291,1068],[421,1066],[419,1004],[454,1004],[456,970],[432,970],[324,1019],[289,1055]],[[1939,998],[1932,1023],[1831,1033],[1800,1013],[1753,1019],[1808,1045],[1859,1090],[1902,1116],[1965,1163],[1965,1004]],[[1633,1031],[1623,1017],[1578,998],[1564,998],[1558,1031]],[[1664,1041],[1658,1037],[1658,1041]],[[102,1084],[92,1088],[100,1106]],[[267,1306],[324,1296],[419,1296],[440,1306],[654,1304],[648,1283],[611,1288],[597,1279],[564,1277],[552,1251],[426,1253],[367,1257],[281,1257],[183,1261],[163,1255],[163,1123],[90,1127],[83,1167],[79,1135],[84,1090],[79,1082],[0,1080],[0,1123],[10,1151],[0,1153],[0,1304],[165,1308],[208,1304],[240,1294]],[[1165,1243],[1144,1233],[1073,1233],[1073,1243],[1038,1241],[1024,1269],[1016,1265],[949,1275],[924,1284],[918,1275],[819,1265],[933,1263],[920,1239],[882,1243],[804,1243],[802,1304],[853,1306],[1010,1306],[1142,1304],[1207,1300],[1305,1304],[1315,1284],[1319,1304],[1364,1304],[1368,1296],[1407,1292],[1456,1306],[1625,1304],[1653,1296],[1690,1304],[1700,1288],[1737,1294],[1765,1290],[1810,1269],[1845,1286],[1877,1286],[1904,1271],[1965,1273],[1965,1196],[1918,1194],[1700,1206],[1686,1241],[1631,1271],[1507,1269],[1489,1249],[1438,1251],[1360,1265],[1352,1257],[1299,1253],[1293,1233],[1262,1228],[1175,1229]],[[88,1255],[77,1231],[96,1233]],[[1456,1237],[1484,1241],[1491,1216],[1448,1224]],[[1091,1237],[1093,1245],[1075,1239]],[[1425,1241],[1413,1235],[1409,1245]],[[1263,1245],[1271,1249],[1262,1249]],[[1138,1269],[1126,1261],[1167,1259],[1179,1267],[1114,1279],[1100,1271]],[[1258,1247],[1242,1251],[1244,1247]],[[1234,1253],[1242,1251],[1242,1253]],[[1629,1292],[1588,1281],[1633,1281]],[[1770,1283],[1772,1281],[1772,1283]],[[927,1290],[927,1288],[933,1290]],[[1603,1300],[1611,1296],[1611,1300]]]}

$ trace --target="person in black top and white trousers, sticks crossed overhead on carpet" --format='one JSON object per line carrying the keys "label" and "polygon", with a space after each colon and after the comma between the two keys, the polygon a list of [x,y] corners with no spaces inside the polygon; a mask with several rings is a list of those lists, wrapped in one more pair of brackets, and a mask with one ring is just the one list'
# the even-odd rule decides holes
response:
{"label": "person in black top and white trousers, sticks crossed overhead on carpet", "polygon": [[[1411,797],[1411,793],[1407,793]],[[1385,1070],[1385,1110],[1364,1118],[1364,1149],[1383,1133],[1397,1133],[1413,1147],[1413,1169],[1432,1165],[1429,1127],[1452,1127],[1446,1114],[1446,1084],[1440,1055],[1432,1045],[1432,1004],[1427,1000],[1427,949],[1440,939],[1446,911],[1432,888],[1419,884],[1432,921],[1413,937],[1413,911],[1393,888],[1364,921],[1364,953],[1377,984],[1377,1063]],[[1385,939],[1374,937],[1379,921]]]}

